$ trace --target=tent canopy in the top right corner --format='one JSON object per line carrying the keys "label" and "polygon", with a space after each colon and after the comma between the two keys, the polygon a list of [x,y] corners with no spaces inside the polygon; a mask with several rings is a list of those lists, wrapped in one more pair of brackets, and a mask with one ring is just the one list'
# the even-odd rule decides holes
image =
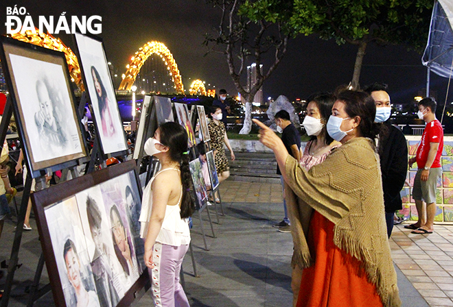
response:
{"label": "tent canopy in the top right corner", "polygon": [[439,0],[432,9],[428,45],[421,62],[442,77],[453,77],[453,1]]}

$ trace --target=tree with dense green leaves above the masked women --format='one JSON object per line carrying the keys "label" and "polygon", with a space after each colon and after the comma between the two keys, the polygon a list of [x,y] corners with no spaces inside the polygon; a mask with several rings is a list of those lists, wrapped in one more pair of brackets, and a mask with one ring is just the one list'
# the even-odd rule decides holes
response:
{"label": "tree with dense green leaves above the masked women", "polygon": [[301,34],[358,46],[351,81],[358,88],[367,45],[404,44],[422,51],[431,10],[432,0],[294,0],[291,25]]}

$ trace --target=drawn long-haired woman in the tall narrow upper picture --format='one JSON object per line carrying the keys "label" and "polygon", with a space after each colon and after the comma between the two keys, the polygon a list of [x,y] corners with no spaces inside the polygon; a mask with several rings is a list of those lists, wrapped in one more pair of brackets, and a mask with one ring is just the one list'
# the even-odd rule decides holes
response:
{"label": "drawn long-haired woman in the tall narrow upper picture", "polygon": [[93,77],[97,103],[101,114],[102,134],[105,137],[110,138],[115,135],[115,126],[113,125],[112,114],[109,106],[110,101],[108,100],[106,88],[104,87],[104,84],[102,84],[101,77],[95,69],[95,66],[91,66],[91,76]]}

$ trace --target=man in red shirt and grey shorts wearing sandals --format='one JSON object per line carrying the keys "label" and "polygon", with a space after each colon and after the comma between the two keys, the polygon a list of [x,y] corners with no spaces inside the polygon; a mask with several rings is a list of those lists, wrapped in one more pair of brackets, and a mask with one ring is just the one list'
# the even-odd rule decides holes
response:
{"label": "man in red shirt and grey shorts wearing sandals", "polygon": [[[419,119],[426,122],[425,131],[417,149],[417,156],[409,159],[409,166],[417,162],[412,191],[419,220],[417,223],[404,226],[413,230],[413,234],[431,234],[436,215],[437,180],[442,175],[441,153],[443,150],[443,129],[436,119],[437,103],[432,98],[425,98],[419,102]],[[423,204],[426,202],[426,207]]]}

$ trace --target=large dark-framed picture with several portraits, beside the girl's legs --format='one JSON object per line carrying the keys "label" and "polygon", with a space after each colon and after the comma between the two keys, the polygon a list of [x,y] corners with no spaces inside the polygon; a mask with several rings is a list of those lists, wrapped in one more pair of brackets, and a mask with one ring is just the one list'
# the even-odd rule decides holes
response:
{"label": "large dark-framed picture with several portraits, beside the girl's legs", "polygon": [[[125,177],[129,178],[130,181],[125,182]],[[106,291],[99,291],[100,286],[98,286],[95,282],[95,280],[100,280],[100,278],[97,278],[95,275],[95,265],[93,265],[93,262],[95,262],[98,258],[101,258],[101,256],[99,256],[100,253],[97,253],[97,250],[99,249],[97,249],[98,245],[95,241],[95,236],[93,235],[95,232],[92,232],[93,230],[91,230],[92,225],[95,223],[93,221],[98,221],[99,225],[104,225],[104,223],[107,224],[106,227],[100,226],[100,230],[104,229],[102,233],[108,233],[111,231],[111,237],[105,236],[104,234],[102,246],[105,245],[106,248],[103,250],[112,250],[112,247],[108,246],[109,241],[114,245],[113,249],[116,249],[115,244],[118,245],[119,241],[117,241],[115,237],[116,232],[114,229],[115,227],[119,227],[119,225],[123,227],[121,233],[123,233],[124,241],[122,242],[128,242],[128,245],[125,246],[130,246],[130,262],[132,262],[133,265],[130,267],[131,271],[129,271],[129,278],[126,275],[124,265],[121,267],[122,263],[119,258],[115,260],[115,256],[113,256],[113,253],[111,252],[102,253],[107,259],[110,260],[110,262],[108,262],[108,268],[111,270],[111,278],[104,280],[109,280],[108,284],[113,286],[119,299],[117,304],[113,304],[113,306],[130,306],[130,304],[134,302],[137,293],[139,293],[139,291],[141,291],[141,289],[149,282],[148,271],[145,269],[142,260],[143,254],[139,256],[139,249],[142,249],[143,245],[137,245],[137,241],[135,240],[137,238],[137,232],[133,228],[133,222],[131,222],[129,215],[132,215],[132,213],[128,211],[128,208],[130,207],[126,206],[126,204],[128,204],[126,200],[128,193],[125,191],[124,201],[121,202],[117,198],[112,205],[108,204],[109,201],[106,199],[115,199],[114,196],[110,195],[108,196],[110,198],[107,198],[106,195],[109,193],[104,191],[106,188],[108,191],[111,191],[110,193],[114,193],[117,197],[119,197],[122,193],[121,189],[128,186],[128,184],[131,184],[131,188],[134,191],[133,193],[135,193],[135,200],[140,201],[141,188],[135,167],[135,161],[133,160],[120,163],[113,167],[108,167],[107,169],[102,169],[94,173],[89,173],[83,177],[78,177],[56,186],[51,186],[50,188],[38,191],[31,195],[32,203],[34,204],[34,212],[36,214],[38,232],[41,238],[40,243],[43,248],[46,267],[49,272],[49,280],[56,306],[72,307],[72,296],[76,295],[74,294],[74,289],[76,288],[74,284],[78,284],[78,282],[74,282],[74,280],[83,283],[85,290],[90,293],[91,298],[97,297],[97,299],[100,300],[101,297],[108,296],[105,295]],[[113,187],[115,187],[115,189],[112,189]],[[99,191],[97,191],[97,189],[99,189]],[[125,189],[127,190],[127,188]],[[96,197],[96,193],[97,195],[101,195],[100,197],[102,201],[99,201],[100,198]],[[97,211],[88,209],[89,206],[93,208],[93,202],[88,200],[90,197],[95,199],[95,202],[97,203],[95,206],[100,212],[103,212],[101,215],[91,214],[91,220],[88,217],[89,211]],[[126,204],[124,204],[125,201]],[[117,209],[113,210],[113,207]],[[108,210],[108,208],[110,208],[110,210]],[[140,209],[137,207],[135,208],[137,210]],[[102,217],[108,217],[108,211],[110,211],[110,223],[108,219],[102,219]],[[121,213],[115,215],[113,212]],[[121,221],[121,223],[119,223],[119,221]],[[59,227],[60,225],[63,225],[63,227]],[[89,230],[87,230],[87,228]],[[97,237],[99,238],[99,236]],[[140,238],[139,240],[141,241]],[[72,249],[72,254],[67,251],[69,241],[73,242],[71,246],[77,247],[75,248],[76,250]],[[65,242],[64,247],[63,242]],[[141,243],[143,243],[143,241],[141,241]],[[85,251],[83,250],[83,247],[86,247]],[[70,270],[70,266],[68,265],[68,262],[69,264],[71,263],[71,257],[68,255],[73,254],[78,255],[73,258],[76,258],[78,261],[78,265],[75,267],[79,268],[80,273],[76,273],[75,277],[72,275],[69,277],[68,272]],[[118,257],[116,250],[115,254],[116,257]],[[135,260],[132,256],[135,257]],[[91,262],[91,265],[87,262]],[[118,263],[120,265],[118,265]],[[82,273],[81,268],[85,273]],[[135,268],[137,268],[137,270]],[[122,275],[119,276],[121,273],[124,274],[125,277]],[[138,276],[136,273],[138,273]],[[64,278],[65,274],[67,274],[66,279]],[[77,275],[79,275],[79,278],[77,278]],[[112,281],[110,282],[110,280]],[[122,280],[126,280],[128,283],[123,282],[121,284]],[[119,288],[117,288],[118,282],[120,282],[119,284],[121,286],[126,285],[122,288],[124,293],[121,294],[123,295],[119,295],[120,291]],[[73,288],[72,290],[71,287]],[[112,289],[112,287],[109,287],[109,289]],[[109,293],[113,293],[113,291],[110,290]]]}

